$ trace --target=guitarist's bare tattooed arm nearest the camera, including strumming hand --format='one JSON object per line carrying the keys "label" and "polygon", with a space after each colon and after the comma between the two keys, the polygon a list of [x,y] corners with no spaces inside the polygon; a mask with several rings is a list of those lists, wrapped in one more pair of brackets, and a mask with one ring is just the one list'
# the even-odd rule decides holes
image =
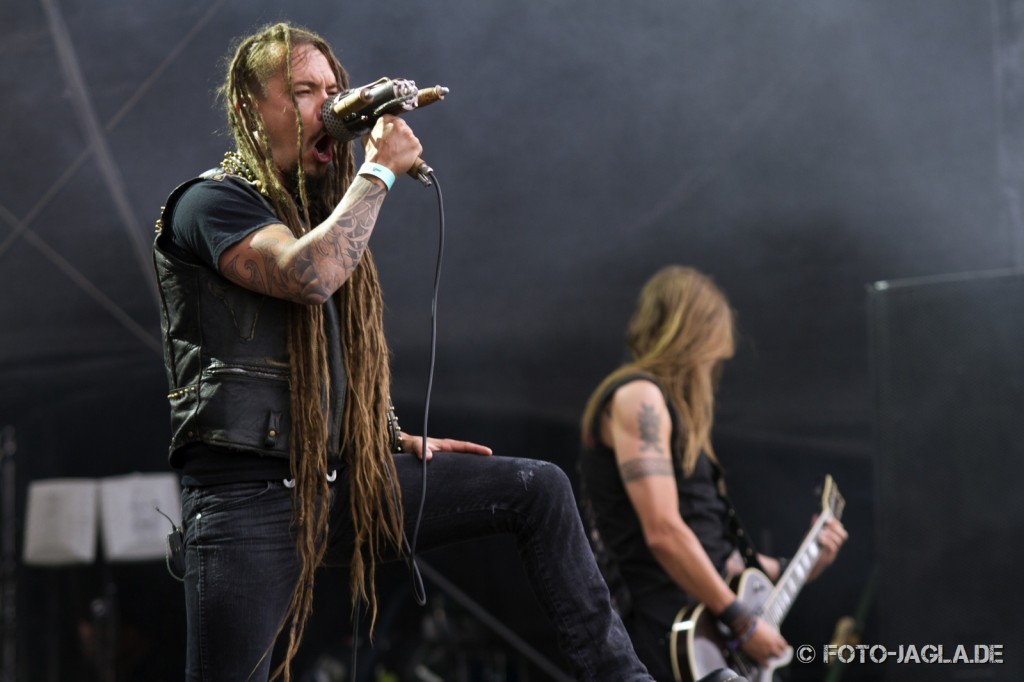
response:
{"label": "guitarist's bare tattooed arm nearest the camera, including strumming hand", "polygon": [[[672,421],[660,389],[645,380],[624,384],[611,397],[601,423],[601,438],[615,461],[644,539],[665,571],[712,613],[735,600],[699,539],[679,514],[679,492],[672,466]],[[743,650],[760,662],[778,655],[785,640],[761,623]]]}

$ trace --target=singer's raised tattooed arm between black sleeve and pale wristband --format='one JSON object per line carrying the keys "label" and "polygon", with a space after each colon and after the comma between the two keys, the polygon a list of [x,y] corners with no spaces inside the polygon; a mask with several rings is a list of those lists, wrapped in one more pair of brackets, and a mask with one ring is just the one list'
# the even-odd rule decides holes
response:
{"label": "singer's raised tattooed arm between black sleeve and pale wristband", "polygon": [[375,182],[356,178],[331,216],[288,247],[293,257],[282,262],[281,245],[291,233],[268,230],[253,239],[251,249],[225,262],[221,273],[269,296],[323,303],[358,265],[386,196]]}

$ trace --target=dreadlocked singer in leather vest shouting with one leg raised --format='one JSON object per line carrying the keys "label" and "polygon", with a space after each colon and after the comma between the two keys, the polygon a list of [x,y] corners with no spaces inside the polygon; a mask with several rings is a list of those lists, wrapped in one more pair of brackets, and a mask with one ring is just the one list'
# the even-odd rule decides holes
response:
{"label": "dreadlocked singer in leather vest shouting with one leg raised", "polygon": [[291,679],[328,561],[349,566],[351,606],[366,604],[372,630],[375,567],[408,547],[403,499],[419,500],[426,459],[419,549],[511,534],[572,674],[649,680],[565,474],[397,426],[368,243],[419,140],[382,116],[356,169],[322,119],[347,75],[307,30],[269,26],[232,54],[220,95],[236,148],[171,194],[154,247],[187,679]]}

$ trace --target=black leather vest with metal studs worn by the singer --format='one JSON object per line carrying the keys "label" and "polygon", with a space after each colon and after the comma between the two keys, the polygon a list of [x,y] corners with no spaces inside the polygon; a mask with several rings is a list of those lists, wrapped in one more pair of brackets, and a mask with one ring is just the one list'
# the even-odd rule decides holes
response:
{"label": "black leather vest with metal studs worn by the singer", "polygon": [[[179,185],[162,211],[154,243],[160,284],[160,324],[171,407],[170,461],[185,445],[202,442],[258,455],[288,458],[291,432],[288,361],[288,301],[239,287],[205,266],[167,249],[164,228],[184,190],[203,179],[245,183],[209,171]],[[325,304],[331,406],[328,458],[339,459],[344,366],[337,301]]]}

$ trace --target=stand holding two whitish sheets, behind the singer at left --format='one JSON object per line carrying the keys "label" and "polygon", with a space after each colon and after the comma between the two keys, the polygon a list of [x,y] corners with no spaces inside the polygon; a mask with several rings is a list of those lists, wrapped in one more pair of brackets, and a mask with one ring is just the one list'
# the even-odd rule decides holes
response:
{"label": "stand holding two whitish sheets, behind the singer at left", "polygon": [[180,522],[178,478],[172,473],[132,473],[36,480],[29,483],[28,498],[27,565],[100,567],[103,595],[91,604],[97,623],[97,667],[102,682],[114,682],[117,586],[109,563],[165,558],[168,528]]}

